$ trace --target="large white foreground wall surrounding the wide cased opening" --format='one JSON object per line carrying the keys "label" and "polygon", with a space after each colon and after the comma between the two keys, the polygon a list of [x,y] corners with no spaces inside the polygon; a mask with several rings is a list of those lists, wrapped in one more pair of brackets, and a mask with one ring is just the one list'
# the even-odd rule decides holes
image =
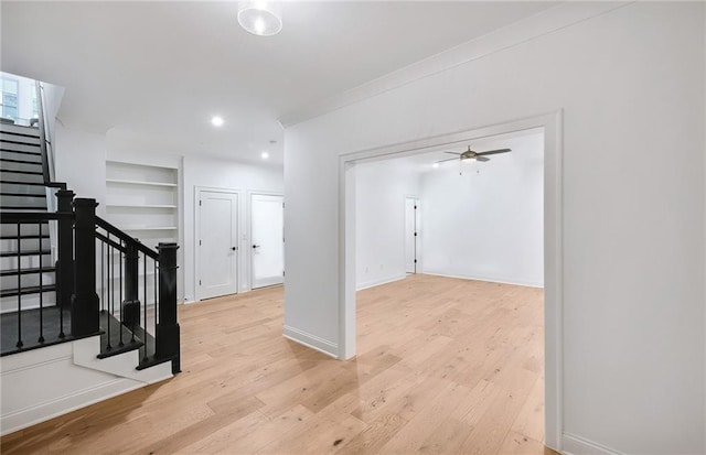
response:
{"label": "large white foreground wall surrounding the wide cased opening", "polygon": [[703,453],[704,6],[496,48],[286,130],[286,325],[341,340],[340,153],[563,109],[563,442]]}

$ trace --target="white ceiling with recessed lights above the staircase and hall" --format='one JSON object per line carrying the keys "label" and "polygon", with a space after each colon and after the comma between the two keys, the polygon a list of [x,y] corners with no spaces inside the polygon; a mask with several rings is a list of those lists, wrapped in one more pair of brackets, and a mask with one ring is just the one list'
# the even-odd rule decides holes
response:
{"label": "white ceiling with recessed lights above the staircase and hall", "polygon": [[554,4],[286,2],[261,37],[236,2],[2,1],[1,69],[65,87],[69,128],[281,163],[279,117]]}

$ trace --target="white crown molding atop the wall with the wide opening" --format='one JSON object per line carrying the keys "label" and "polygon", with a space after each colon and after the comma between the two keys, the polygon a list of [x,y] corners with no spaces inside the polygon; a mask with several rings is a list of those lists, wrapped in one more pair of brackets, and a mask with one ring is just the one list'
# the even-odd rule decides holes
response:
{"label": "white crown molding atop the wall with the wide opening", "polygon": [[490,54],[514,47],[585,20],[622,8],[631,2],[568,2],[523,19],[492,33],[459,44],[439,54],[413,63],[342,94],[306,106],[278,119],[284,128],[301,123],[408,85],[415,80],[442,73]]}

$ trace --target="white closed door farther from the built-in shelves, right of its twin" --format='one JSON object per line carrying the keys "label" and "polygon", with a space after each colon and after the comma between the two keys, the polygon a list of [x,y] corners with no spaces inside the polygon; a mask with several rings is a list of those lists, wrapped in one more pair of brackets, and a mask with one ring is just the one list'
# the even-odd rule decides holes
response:
{"label": "white closed door farther from the built-in shelves, right of its twin", "polygon": [[282,196],[252,195],[253,289],[281,284],[285,281],[285,210],[282,204]]}

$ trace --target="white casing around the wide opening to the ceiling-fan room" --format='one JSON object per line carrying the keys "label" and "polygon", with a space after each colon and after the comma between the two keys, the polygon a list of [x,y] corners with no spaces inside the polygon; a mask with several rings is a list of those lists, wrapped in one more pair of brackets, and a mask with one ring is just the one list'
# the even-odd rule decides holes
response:
{"label": "white casing around the wide opening to the ceiling-fan room", "polygon": [[[564,431],[564,248],[563,110],[509,120],[404,143],[339,155],[339,344],[338,358],[356,351],[355,172],[357,162],[410,156],[470,140],[542,128],[544,130],[544,364],[545,444],[561,448]],[[351,171],[349,173],[349,171]]]}

